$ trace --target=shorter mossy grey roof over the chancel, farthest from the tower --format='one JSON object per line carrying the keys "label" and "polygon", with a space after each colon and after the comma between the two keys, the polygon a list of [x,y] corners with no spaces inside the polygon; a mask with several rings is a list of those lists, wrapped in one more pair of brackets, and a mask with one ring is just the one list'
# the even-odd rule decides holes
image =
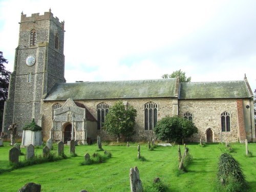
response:
{"label": "shorter mossy grey roof over the chancel, farthest from the tower", "polygon": [[250,98],[244,80],[180,83],[179,99]]}

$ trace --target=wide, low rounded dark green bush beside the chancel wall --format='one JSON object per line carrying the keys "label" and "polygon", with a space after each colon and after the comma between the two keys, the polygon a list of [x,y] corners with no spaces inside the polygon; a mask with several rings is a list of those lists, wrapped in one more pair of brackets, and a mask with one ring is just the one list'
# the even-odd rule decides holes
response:
{"label": "wide, low rounded dark green bush beside the chancel wall", "polygon": [[198,133],[198,129],[190,120],[179,116],[166,116],[157,122],[154,132],[160,140],[181,142],[184,138]]}

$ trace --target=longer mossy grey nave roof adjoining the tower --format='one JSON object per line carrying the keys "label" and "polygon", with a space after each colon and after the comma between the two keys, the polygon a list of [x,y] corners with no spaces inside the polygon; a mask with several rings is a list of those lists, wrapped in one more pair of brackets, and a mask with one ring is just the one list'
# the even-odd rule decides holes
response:
{"label": "longer mossy grey nave roof adjoining the tower", "polygon": [[45,100],[177,97],[176,78],[58,83]]}

